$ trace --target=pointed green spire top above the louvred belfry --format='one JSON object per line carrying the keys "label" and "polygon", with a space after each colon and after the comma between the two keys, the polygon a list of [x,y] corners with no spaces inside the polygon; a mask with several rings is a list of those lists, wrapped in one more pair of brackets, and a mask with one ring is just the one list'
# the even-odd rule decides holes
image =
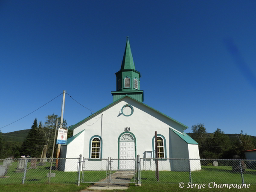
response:
{"label": "pointed green spire top above the louvred belfry", "polygon": [[122,60],[122,66],[121,66],[121,70],[124,70],[124,69],[134,69],[135,70],[128,36],[127,36],[127,41],[126,41],[125,53],[124,53],[123,60]]}

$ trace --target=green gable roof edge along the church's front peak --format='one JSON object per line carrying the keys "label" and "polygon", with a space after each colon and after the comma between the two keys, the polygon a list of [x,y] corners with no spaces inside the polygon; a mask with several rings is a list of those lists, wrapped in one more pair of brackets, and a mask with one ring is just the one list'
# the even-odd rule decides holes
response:
{"label": "green gable roof edge along the church's front peak", "polygon": [[[93,113],[92,115],[86,117],[85,119],[81,120],[80,122],[76,123],[75,125],[71,126],[71,127],[69,128],[69,130],[74,130],[77,125],[79,125],[79,124],[85,122],[87,119],[89,119],[89,118],[91,118],[91,117],[93,117],[93,116],[95,116],[95,115],[98,115],[98,114],[99,114],[100,112],[102,112],[105,108],[110,107],[111,105],[115,104],[116,102],[120,101],[121,99],[123,99],[123,98],[125,98],[125,97],[129,97],[129,98],[133,99],[134,101],[139,102],[138,100],[132,98],[131,96],[125,95],[125,96],[121,97],[120,99],[118,99],[118,100],[112,102],[111,104],[107,105],[106,107],[100,109],[99,111]],[[144,104],[143,102],[139,102],[139,103],[141,103],[142,105],[147,106],[148,108],[151,108],[150,106]],[[157,111],[157,110],[154,109],[154,108],[151,108],[151,109],[154,110],[154,111],[156,111],[157,113],[160,113],[160,114],[163,115],[163,116],[166,116],[166,117],[169,118],[169,119],[172,119],[172,117],[169,117],[168,115],[166,115],[166,114],[164,114],[164,113],[161,113],[160,111]],[[172,120],[173,120],[174,122],[177,122],[178,124],[182,125],[182,126],[184,127],[183,130],[189,128],[188,126],[182,124],[181,122],[176,121],[175,119],[172,119]],[[188,136],[188,137],[189,137],[189,136]],[[71,138],[72,138],[72,137],[71,137]]]}

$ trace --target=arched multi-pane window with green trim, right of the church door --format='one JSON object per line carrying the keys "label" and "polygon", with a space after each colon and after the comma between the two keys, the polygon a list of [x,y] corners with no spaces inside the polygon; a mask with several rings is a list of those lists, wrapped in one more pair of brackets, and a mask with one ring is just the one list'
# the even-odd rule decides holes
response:
{"label": "arched multi-pane window with green trim, right of the church door", "polygon": [[[152,139],[153,148],[153,158],[155,158],[155,137]],[[166,157],[166,140],[163,135],[157,134],[157,158],[167,158]]]}

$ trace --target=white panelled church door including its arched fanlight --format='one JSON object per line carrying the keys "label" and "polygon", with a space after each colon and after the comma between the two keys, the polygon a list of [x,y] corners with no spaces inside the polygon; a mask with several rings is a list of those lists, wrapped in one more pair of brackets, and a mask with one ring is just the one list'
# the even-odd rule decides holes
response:
{"label": "white panelled church door including its arched fanlight", "polygon": [[125,133],[119,140],[119,169],[134,169],[135,143],[134,137]]}

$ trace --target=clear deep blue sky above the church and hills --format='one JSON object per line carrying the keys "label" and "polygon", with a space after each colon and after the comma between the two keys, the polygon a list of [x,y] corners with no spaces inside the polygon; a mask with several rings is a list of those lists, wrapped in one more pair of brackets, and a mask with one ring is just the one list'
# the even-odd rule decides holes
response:
{"label": "clear deep blue sky above the church and hills", "polygon": [[[144,103],[209,133],[256,136],[256,1],[0,2],[0,127],[63,90],[97,111],[112,102],[129,36]],[[62,96],[2,128],[61,114]],[[64,119],[91,114],[71,98]],[[124,125],[125,127],[125,125]]]}

